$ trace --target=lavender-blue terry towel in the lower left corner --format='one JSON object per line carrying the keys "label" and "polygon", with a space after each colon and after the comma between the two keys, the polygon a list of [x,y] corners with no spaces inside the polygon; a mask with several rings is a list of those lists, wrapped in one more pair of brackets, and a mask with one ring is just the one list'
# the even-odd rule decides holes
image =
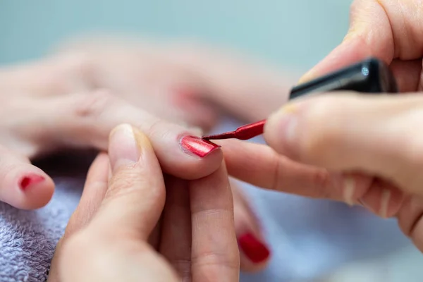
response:
{"label": "lavender-blue terry towel in the lower left corner", "polygon": [[36,211],[0,204],[0,282],[47,279],[51,257],[78,204],[82,181],[54,179],[53,200]]}

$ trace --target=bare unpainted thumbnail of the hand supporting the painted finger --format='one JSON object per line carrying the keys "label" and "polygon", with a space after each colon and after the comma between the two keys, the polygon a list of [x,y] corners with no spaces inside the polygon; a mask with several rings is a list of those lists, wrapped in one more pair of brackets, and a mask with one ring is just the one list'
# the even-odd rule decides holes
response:
{"label": "bare unpainted thumbnail of the hand supporting the painted finger", "polygon": [[110,133],[109,157],[111,170],[128,164],[134,164],[140,159],[140,148],[135,140],[133,127],[129,124],[118,125]]}

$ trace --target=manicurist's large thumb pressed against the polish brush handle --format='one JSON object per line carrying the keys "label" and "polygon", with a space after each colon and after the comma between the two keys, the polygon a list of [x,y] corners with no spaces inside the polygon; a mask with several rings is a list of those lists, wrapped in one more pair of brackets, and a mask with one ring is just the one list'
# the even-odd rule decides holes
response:
{"label": "manicurist's large thumb pressed against the polish brush handle", "polygon": [[362,171],[423,195],[422,95],[331,94],[298,99],[267,121],[281,154],[331,171]]}

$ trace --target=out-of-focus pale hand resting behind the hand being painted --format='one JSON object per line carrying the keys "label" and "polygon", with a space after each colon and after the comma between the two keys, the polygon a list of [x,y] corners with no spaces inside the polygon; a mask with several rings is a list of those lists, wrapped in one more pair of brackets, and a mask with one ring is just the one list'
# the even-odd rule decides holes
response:
{"label": "out-of-focus pale hand resting behind the hand being painted", "polygon": [[0,90],[54,95],[107,89],[154,116],[208,130],[222,111],[256,121],[286,101],[293,78],[249,61],[198,44],[94,37],[4,68]]}

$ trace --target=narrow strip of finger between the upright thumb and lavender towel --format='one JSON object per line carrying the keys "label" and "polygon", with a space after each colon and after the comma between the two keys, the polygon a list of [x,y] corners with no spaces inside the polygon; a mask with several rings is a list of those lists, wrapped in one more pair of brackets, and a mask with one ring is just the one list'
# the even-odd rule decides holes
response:
{"label": "narrow strip of finger between the upright thumb and lavender towel", "polygon": [[54,257],[51,260],[49,271],[49,282],[59,282],[59,261],[62,257],[63,244],[68,238],[87,226],[92,216],[102,203],[107,190],[107,175],[109,172],[109,157],[106,154],[99,154],[90,166],[85,181],[85,187],[78,207],[69,219],[63,237],[59,240],[54,250]]}

